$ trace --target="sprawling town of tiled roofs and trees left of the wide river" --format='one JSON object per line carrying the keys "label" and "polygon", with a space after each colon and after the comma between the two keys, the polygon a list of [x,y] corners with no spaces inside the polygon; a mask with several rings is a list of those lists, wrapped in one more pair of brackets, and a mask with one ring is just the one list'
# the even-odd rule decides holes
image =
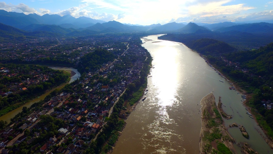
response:
{"label": "sprawling town of tiled roofs and trees left of the wide river", "polygon": [[[62,90],[54,91],[44,101],[35,103],[29,108],[24,107],[21,113],[11,119],[10,124],[6,125],[6,122],[1,121],[6,126],[0,131],[2,153],[75,154],[86,152],[88,146],[92,148],[90,144],[102,144],[100,143],[102,139],[102,136],[99,135],[102,134],[100,132],[103,131],[107,122],[111,121],[111,114],[121,110],[116,109],[115,104],[119,100],[123,104],[123,99],[134,100],[132,92],[139,89],[143,92],[145,88],[141,89],[141,87],[143,84],[144,87],[147,86],[147,70],[149,70],[148,65],[150,65],[151,57],[147,50],[140,46],[141,41],[138,36],[86,38],[86,41],[77,44],[78,46],[74,44],[74,48],[70,50],[64,51],[60,47],[62,52],[53,54],[58,51],[53,50],[54,47],[71,43],[68,41],[69,39],[59,40],[60,43],[53,47],[44,47],[43,51],[46,53],[43,55],[48,55],[47,58],[51,60],[55,58],[57,61],[64,59],[57,54],[69,55],[70,57],[66,57],[66,60],[75,60],[71,64],[84,67],[81,77],[71,84],[67,84]],[[75,38],[71,40],[77,41]],[[41,59],[37,55],[40,48],[38,51],[33,51],[33,49],[34,47],[31,47],[27,51],[20,51],[28,53],[32,57],[24,55],[28,58],[17,57],[11,61],[21,59],[22,63],[37,62],[37,59]],[[81,58],[84,55],[100,52],[110,52],[113,56],[111,57],[112,61],[103,63],[98,69],[83,66]],[[5,53],[5,57],[22,56],[15,51]],[[2,68],[2,70],[6,69]],[[29,73],[33,74],[33,72]],[[36,77],[41,78],[39,75]],[[42,82],[46,79],[46,75],[44,75]],[[7,94],[3,93],[3,95]],[[143,93],[136,98],[133,104],[138,102],[142,95]],[[130,104],[128,105],[130,106]],[[122,108],[126,110],[123,105]],[[123,116],[118,116],[122,121]],[[120,123],[122,128],[124,121]],[[117,138],[114,136],[116,135],[118,134],[111,135],[106,151],[111,149],[109,146],[115,144]]]}

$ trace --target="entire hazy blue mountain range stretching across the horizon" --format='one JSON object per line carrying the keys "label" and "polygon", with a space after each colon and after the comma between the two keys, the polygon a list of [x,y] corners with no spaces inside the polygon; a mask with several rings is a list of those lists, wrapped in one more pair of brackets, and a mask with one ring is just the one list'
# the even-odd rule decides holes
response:
{"label": "entire hazy blue mountain range stretching across the horizon", "polygon": [[9,25],[27,32],[46,31],[49,33],[66,34],[67,36],[92,35],[95,33],[211,33],[239,31],[245,33],[272,33],[272,23],[167,23],[152,24],[149,26],[122,24],[117,21],[105,22],[88,17],[74,18],[71,15],[59,16],[45,14],[39,16],[35,13],[7,12],[0,10],[0,23]]}

